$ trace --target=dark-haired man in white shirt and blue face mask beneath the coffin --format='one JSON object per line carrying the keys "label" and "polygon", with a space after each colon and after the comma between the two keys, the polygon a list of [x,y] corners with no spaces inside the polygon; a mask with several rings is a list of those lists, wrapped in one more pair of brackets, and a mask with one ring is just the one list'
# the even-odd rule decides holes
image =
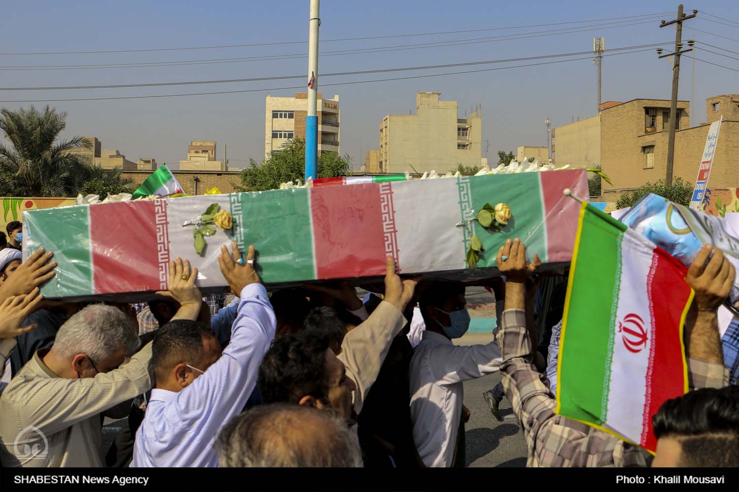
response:
{"label": "dark-haired man in white shirt and blue face mask beneath the coffin", "polygon": [[494,373],[501,361],[495,342],[452,343],[469,328],[465,306],[459,283],[433,283],[420,297],[426,330],[410,364],[410,411],[413,440],[426,466],[465,465],[463,381]]}

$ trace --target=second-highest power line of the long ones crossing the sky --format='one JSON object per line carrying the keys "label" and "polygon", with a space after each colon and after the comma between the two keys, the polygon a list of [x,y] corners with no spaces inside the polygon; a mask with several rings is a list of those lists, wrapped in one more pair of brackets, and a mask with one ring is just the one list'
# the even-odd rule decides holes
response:
{"label": "second-highest power line of the long ones crossing the sky", "polygon": [[[623,22],[623,21],[621,21]],[[494,41],[511,41],[515,39],[527,39],[527,38],[540,38],[550,35],[562,35],[562,34],[573,34],[575,32],[586,32],[593,30],[602,29],[613,29],[615,27],[627,27],[638,24],[651,24],[652,21],[635,22],[631,24],[621,24],[612,26],[610,24],[619,23],[607,23],[607,24],[593,24],[593,26],[582,26],[578,28],[566,28],[565,30],[551,30],[542,32],[525,32],[519,35],[505,35],[505,36],[491,36],[486,38],[470,38],[460,39],[453,41],[437,41],[435,43],[425,44],[410,44],[410,45],[396,45],[396,46],[378,46],[375,48],[363,48],[363,49],[346,49],[338,50],[334,52],[323,52],[322,57],[327,56],[338,56],[338,55],[364,55],[367,53],[379,53],[389,51],[405,51],[408,49],[426,49],[426,48],[437,48],[446,46],[463,46],[466,44],[480,44],[490,43]],[[605,27],[603,27],[605,26]],[[593,27],[592,29],[586,29]],[[567,32],[556,32],[556,31],[567,31]],[[150,67],[150,66],[183,66],[183,65],[208,65],[215,63],[242,63],[249,61],[265,61],[265,60],[290,60],[295,58],[304,58],[304,53],[294,53],[290,55],[265,55],[256,57],[240,57],[240,58],[215,58],[205,60],[183,60],[183,61],[161,61],[161,62],[143,62],[143,63],[111,63],[111,64],[94,64],[94,65],[49,65],[49,66],[0,66],[0,70],[71,70],[71,69],[115,69],[115,68],[139,68],[139,67]]]}

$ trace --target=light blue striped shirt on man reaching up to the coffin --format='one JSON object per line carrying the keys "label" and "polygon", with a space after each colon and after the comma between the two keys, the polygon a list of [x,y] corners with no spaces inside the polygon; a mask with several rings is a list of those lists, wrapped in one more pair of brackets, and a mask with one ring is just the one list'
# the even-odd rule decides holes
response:
{"label": "light blue striped shirt on man reaching up to the coffin", "polygon": [[276,319],[261,284],[241,291],[231,343],[221,358],[180,392],[152,389],[136,432],[132,467],[215,467],[213,444],[256,386],[259,364],[275,335]]}

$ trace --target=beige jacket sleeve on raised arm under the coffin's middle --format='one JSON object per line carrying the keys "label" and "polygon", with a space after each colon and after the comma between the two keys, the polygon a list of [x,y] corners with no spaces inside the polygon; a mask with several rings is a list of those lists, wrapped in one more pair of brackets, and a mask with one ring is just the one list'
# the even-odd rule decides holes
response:
{"label": "beige jacket sleeve on raised arm under the coffin's middle", "polygon": [[365,322],[344,336],[338,359],[347,367],[347,376],[357,384],[353,395],[357,415],[380,373],[392,339],[401,333],[405,325],[403,313],[383,301]]}

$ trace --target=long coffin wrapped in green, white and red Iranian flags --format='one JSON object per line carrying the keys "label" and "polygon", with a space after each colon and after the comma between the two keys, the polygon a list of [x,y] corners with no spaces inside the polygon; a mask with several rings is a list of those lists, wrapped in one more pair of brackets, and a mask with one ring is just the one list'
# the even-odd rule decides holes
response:
{"label": "long coffin wrapped in green, white and red Iranian flags", "polygon": [[[41,289],[50,299],[115,294],[134,302],[166,289],[168,261],[183,257],[199,270],[204,292],[223,291],[220,246],[254,244],[265,284],[279,287],[316,280],[373,281],[392,254],[401,274],[453,280],[497,275],[495,255],[507,238],[521,238],[545,266],[572,257],[579,204],[588,198],[584,170],[441,178],[258,193],[75,205],[24,212],[24,258],[44,246],[58,262]],[[500,232],[472,221],[486,203],[505,202],[512,217]],[[205,237],[194,249],[194,226],[211,204],[233,217],[233,227]],[[486,252],[466,265],[470,238]],[[121,294],[125,294],[121,296]]]}

